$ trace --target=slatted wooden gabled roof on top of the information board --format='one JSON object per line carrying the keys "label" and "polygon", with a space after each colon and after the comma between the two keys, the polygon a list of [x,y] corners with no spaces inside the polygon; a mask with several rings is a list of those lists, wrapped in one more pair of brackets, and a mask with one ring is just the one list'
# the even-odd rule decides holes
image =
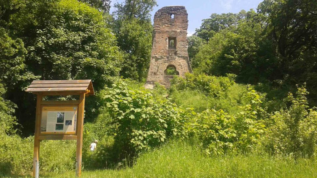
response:
{"label": "slatted wooden gabled roof on top of the information board", "polygon": [[33,80],[25,91],[43,95],[94,94],[91,80]]}

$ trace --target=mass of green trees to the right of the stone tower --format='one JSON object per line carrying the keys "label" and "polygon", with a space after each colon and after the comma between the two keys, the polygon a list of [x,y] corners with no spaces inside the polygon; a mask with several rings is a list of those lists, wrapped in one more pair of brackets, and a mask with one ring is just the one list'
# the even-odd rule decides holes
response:
{"label": "mass of green trees to the right of the stone tower", "polygon": [[212,14],[196,30],[207,44],[192,56],[192,67],[209,75],[234,73],[238,82],[265,83],[271,87],[265,92],[282,88],[280,98],[306,82],[308,100],[315,103],[316,4],[264,0],[257,12]]}

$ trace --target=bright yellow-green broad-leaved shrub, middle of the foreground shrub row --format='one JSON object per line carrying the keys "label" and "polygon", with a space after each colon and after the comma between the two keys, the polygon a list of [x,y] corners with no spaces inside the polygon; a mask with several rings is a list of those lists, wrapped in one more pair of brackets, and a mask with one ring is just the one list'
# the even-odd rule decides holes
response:
{"label": "bright yellow-green broad-leaved shrub, middle of the foreground shrub row", "polygon": [[241,107],[241,112],[228,114],[223,110],[206,110],[197,114],[189,126],[198,135],[208,154],[224,154],[228,150],[248,151],[260,142],[265,125],[260,118],[266,116],[260,107],[261,95],[249,89],[251,104]]}

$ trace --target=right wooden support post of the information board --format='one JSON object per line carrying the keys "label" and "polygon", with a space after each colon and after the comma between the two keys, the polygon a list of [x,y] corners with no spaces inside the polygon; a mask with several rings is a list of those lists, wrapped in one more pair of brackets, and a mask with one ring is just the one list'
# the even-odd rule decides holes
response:
{"label": "right wooden support post of the information board", "polygon": [[84,127],[84,107],[85,93],[79,96],[78,122],[77,122],[77,148],[76,148],[76,175],[81,176],[81,150],[82,150],[82,132]]}

